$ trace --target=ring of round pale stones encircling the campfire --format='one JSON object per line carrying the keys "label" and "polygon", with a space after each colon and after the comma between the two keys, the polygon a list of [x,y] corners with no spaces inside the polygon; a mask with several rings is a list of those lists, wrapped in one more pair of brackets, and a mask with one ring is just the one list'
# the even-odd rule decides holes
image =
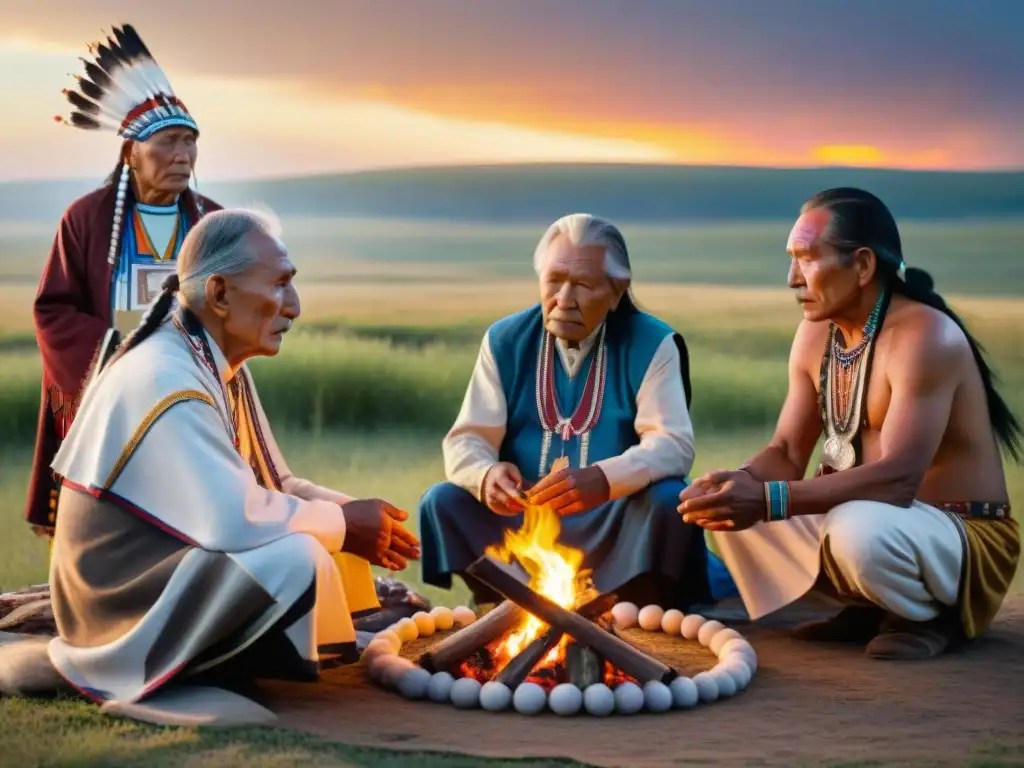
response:
{"label": "ring of round pale stones encircling the campfire", "polygon": [[375,682],[397,690],[406,698],[451,702],[461,710],[479,707],[501,712],[512,708],[522,715],[538,715],[546,709],[566,716],[583,710],[597,717],[612,713],[633,715],[641,710],[685,710],[735,695],[750,685],[757,673],[758,654],[754,646],[721,622],[709,621],[697,613],[684,615],[676,609],[663,610],[657,605],[638,609],[633,603],[616,604],[611,615],[617,629],[639,626],[646,632],[664,632],[696,640],[718,656],[718,663],[693,677],[681,675],[670,685],[651,681],[641,688],[636,683],[626,682],[612,690],[604,683],[595,683],[580,690],[571,683],[562,683],[549,694],[540,685],[529,682],[521,683],[512,691],[499,682],[481,685],[472,678],[456,680],[447,672],[431,675],[399,654],[403,643],[455,626],[462,629],[471,625],[477,616],[466,606],[454,609],[438,606],[429,613],[420,611],[411,618],[396,622],[374,636],[361,660]]}

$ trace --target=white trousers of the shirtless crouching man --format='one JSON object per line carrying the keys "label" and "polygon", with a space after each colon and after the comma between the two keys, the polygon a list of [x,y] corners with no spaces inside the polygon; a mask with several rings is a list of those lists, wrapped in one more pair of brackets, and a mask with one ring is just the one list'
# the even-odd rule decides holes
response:
{"label": "white trousers of the shirtless crouching man", "polygon": [[921,502],[847,502],[823,515],[713,534],[752,620],[806,595],[821,568],[821,543],[846,584],[912,622],[954,605],[964,564],[963,522]]}

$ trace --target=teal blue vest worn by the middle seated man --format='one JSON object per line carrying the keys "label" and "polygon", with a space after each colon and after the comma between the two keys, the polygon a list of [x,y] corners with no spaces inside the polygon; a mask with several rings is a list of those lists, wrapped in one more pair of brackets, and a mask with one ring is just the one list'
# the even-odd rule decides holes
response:
{"label": "teal blue vest worn by the middle seated man", "polygon": [[[588,465],[618,456],[640,441],[633,426],[637,392],[654,352],[665,338],[674,333],[672,327],[643,312],[608,316],[605,331],[607,378],[600,418],[590,433]],[[570,466],[579,467],[581,438],[571,435],[563,443],[558,434],[552,438],[546,466],[540,467],[544,439],[537,412],[537,369],[541,365],[544,338],[541,305],[498,321],[487,334],[508,402],[508,423],[499,451],[500,460],[519,468],[524,485],[547,474],[551,463],[563,454],[568,457]],[[558,411],[565,418],[571,416],[580,403],[596,352],[595,341],[574,380],[569,380],[561,358],[557,354],[552,357]]]}

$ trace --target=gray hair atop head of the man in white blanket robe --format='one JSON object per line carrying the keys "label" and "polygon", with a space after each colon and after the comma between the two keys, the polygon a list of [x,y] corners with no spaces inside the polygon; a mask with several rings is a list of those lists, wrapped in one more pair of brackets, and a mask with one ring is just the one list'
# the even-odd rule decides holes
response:
{"label": "gray hair atop head of the man in white blanket robe", "polygon": [[185,303],[202,303],[214,274],[241,274],[252,266],[249,238],[265,234],[280,242],[281,220],[270,209],[225,208],[208,213],[191,228],[178,254],[178,290]]}

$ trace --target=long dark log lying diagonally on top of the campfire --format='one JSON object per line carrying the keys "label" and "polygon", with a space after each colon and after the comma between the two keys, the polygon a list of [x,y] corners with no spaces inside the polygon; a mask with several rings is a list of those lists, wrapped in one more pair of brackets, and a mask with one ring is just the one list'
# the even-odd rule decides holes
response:
{"label": "long dark log lying diagonally on top of the campfire", "polygon": [[590,646],[627,675],[636,678],[641,685],[650,680],[668,684],[679,676],[671,667],[605,632],[579,613],[565,610],[557,603],[537,594],[520,582],[500,560],[484,555],[470,565],[467,572],[552,629],[560,630],[578,642]]}

